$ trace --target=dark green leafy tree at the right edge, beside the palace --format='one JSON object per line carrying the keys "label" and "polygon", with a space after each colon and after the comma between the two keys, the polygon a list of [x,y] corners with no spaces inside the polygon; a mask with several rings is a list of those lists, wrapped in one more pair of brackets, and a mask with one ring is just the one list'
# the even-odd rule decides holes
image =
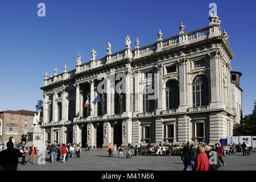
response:
{"label": "dark green leafy tree at the right edge, beside the palace", "polygon": [[234,135],[256,135],[256,101],[254,101],[253,113],[246,115],[241,123],[235,126]]}

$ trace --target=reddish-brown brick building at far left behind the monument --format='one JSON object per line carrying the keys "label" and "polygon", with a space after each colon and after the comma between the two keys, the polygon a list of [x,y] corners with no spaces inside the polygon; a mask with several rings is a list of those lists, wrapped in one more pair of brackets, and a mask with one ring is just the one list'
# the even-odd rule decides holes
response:
{"label": "reddish-brown brick building at far left behind the monument", "polygon": [[33,125],[35,111],[5,110],[0,112],[0,143],[12,140],[14,144],[26,142],[27,131]]}

